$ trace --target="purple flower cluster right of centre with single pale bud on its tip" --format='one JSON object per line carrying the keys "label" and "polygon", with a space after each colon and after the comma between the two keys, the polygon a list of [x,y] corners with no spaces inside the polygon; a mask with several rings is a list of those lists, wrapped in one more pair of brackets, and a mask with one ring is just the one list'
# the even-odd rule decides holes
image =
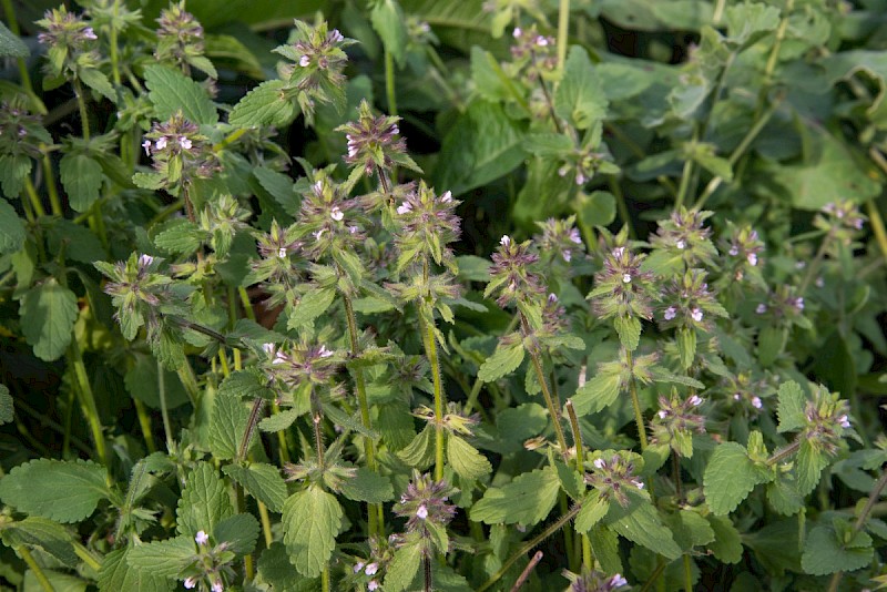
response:
{"label": "purple flower cluster right of centre with single pale bud on its tip", "polygon": [[517,243],[508,235],[502,236],[499,248],[492,254],[490,283],[483,297],[498,293],[496,304],[501,307],[539,299],[546,288],[539,276],[530,271],[538,261],[539,256],[530,253],[530,241]]}

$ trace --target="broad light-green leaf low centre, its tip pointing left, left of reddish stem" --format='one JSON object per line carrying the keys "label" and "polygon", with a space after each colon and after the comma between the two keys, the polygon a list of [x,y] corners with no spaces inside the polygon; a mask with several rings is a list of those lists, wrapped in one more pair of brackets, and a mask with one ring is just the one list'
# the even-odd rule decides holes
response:
{"label": "broad light-green leaf low centre, its tip pointing left, left of reddish stem", "polygon": [[489,488],[469,513],[476,522],[530,527],[546,519],[560,488],[552,467],[524,472],[503,487]]}

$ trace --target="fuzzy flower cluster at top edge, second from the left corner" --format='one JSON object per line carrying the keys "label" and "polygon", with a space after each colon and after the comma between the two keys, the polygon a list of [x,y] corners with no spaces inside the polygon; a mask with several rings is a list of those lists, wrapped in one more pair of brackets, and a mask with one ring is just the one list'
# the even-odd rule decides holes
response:
{"label": "fuzzy flower cluster at top edge, second from the left corner", "polygon": [[157,48],[154,50],[157,61],[185,71],[194,67],[216,78],[215,68],[203,54],[203,27],[193,14],[185,11],[184,0],[162,10],[157,24]]}

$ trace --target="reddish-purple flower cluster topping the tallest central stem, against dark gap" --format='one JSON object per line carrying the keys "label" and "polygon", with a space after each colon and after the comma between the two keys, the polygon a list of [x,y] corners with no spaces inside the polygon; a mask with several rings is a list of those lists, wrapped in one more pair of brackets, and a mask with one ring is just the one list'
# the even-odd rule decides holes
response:
{"label": "reddish-purple flower cluster topping the tallest central stem, against dark gap", "polygon": [[355,166],[363,167],[367,176],[374,170],[390,171],[394,166],[406,166],[416,172],[421,169],[407,154],[407,142],[399,137],[400,118],[379,115],[375,116],[369,103],[360,101],[357,110],[357,121],[348,122],[336,127],[338,132],[345,132],[348,141],[348,155],[345,162]]}

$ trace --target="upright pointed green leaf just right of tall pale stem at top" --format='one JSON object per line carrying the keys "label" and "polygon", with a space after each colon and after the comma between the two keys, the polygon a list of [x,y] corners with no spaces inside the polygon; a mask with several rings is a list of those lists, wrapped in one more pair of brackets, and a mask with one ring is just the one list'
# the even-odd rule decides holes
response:
{"label": "upright pointed green leaf just right of tall pale stem at top", "polygon": [[570,48],[564,73],[554,93],[554,112],[575,127],[585,130],[606,116],[608,100],[588,52]]}

